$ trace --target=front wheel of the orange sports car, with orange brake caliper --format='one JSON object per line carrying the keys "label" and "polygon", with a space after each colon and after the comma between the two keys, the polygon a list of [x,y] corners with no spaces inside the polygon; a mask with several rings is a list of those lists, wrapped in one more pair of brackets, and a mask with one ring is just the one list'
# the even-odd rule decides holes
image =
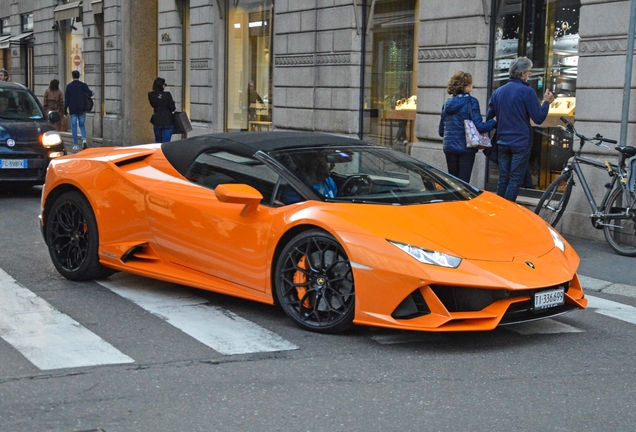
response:
{"label": "front wheel of the orange sports car, with orange brake caliper", "polygon": [[315,229],[298,234],[283,248],[275,275],[278,302],[300,327],[318,333],[351,327],[353,272],[332,235]]}

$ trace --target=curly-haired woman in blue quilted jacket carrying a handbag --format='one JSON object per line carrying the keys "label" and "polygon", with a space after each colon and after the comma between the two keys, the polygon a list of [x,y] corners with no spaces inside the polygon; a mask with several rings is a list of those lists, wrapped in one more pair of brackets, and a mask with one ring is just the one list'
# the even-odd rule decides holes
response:
{"label": "curly-haired woman in blue quilted jacket carrying a handbag", "polygon": [[494,119],[482,121],[479,101],[470,95],[473,77],[468,72],[455,73],[448,82],[451,97],[442,106],[439,136],[444,137],[444,155],[448,172],[470,182],[477,149],[466,147],[464,120],[472,120],[479,132],[490,132],[497,123]]}

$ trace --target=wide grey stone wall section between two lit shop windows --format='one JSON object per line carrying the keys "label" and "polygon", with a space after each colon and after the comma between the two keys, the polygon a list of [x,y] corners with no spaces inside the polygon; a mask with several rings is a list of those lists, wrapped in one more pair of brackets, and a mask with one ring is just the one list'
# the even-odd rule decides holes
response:
{"label": "wide grey stone wall section between two lit shop windows", "polygon": [[357,134],[361,35],[351,0],[277,1],[276,128]]}

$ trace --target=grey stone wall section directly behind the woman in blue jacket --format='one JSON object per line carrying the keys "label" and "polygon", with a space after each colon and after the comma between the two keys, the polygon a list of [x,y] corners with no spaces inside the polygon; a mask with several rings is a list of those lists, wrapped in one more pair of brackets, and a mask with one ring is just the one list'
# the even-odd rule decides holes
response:
{"label": "grey stone wall section directly behind the woman in blue jacket", "polygon": [[[488,86],[488,41],[490,2],[481,0],[421,1],[418,40],[418,95],[415,134],[418,142],[411,154],[446,169],[438,125],[446,85],[457,71],[473,76],[472,95],[486,114]],[[486,10],[484,10],[486,6]],[[471,183],[483,187],[485,158],[479,152]]]}

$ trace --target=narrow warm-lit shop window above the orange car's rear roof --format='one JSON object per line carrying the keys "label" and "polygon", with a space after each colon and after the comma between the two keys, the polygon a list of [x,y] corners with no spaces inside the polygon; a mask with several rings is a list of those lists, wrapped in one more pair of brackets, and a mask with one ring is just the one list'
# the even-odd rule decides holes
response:
{"label": "narrow warm-lit shop window above the orange car's rear roof", "polygon": [[227,8],[226,130],[272,126],[271,0],[232,0]]}

